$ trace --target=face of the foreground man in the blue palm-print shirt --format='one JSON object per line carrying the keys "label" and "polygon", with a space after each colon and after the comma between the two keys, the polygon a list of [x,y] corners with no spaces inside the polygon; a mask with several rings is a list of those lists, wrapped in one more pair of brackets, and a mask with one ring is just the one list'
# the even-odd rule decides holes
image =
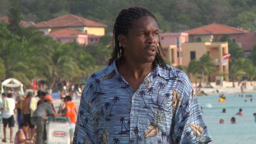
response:
{"label": "face of the foreground man in the blue palm-print shirt", "polygon": [[131,29],[124,36],[124,57],[127,61],[136,63],[152,63],[155,60],[159,29],[154,18],[150,16],[136,19]]}

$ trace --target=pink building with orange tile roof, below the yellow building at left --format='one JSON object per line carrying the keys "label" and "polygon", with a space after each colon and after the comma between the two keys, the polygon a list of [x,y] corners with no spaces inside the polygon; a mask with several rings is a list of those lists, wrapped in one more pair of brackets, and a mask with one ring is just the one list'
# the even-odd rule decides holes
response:
{"label": "pink building with orange tile roof, below the yellow building at left", "polygon": [[84,32],[81,32],[79,30],[73,30],[68,28],[60,29],[46,35],[50,35],[53,39],[59,40],[62,43],[75,41],[81,45],[98,43],[100,41],[100,38],[102,37],[97,35],[86,35]]}

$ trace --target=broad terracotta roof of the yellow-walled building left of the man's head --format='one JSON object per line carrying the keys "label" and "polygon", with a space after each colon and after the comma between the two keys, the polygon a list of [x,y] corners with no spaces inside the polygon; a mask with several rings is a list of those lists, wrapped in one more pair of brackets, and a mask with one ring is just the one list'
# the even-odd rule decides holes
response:
{"label": "broad terracotta roof of the yellow-walled building left of the man's head", "polygon": [[94,22],[92,20],[79,17],[72,14],[63,15],[46,22],[40,22],[35,25],[39,28],[46,27],[76,27],[76,26],[95,26],[95,27],[107,27],[107,25]]}

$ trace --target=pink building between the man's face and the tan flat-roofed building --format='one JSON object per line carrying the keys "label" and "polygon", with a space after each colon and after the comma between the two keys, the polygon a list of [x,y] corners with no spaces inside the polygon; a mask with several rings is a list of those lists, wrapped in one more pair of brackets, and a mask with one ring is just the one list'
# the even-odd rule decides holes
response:
{"label": "pink building between the man's face and the tan flat-roofed building", "polygon": [[177,46],[177,66],[182,65],[182,47],[181,44],[188,42],[187,33],[161,33],[160,42],[162,46]]}

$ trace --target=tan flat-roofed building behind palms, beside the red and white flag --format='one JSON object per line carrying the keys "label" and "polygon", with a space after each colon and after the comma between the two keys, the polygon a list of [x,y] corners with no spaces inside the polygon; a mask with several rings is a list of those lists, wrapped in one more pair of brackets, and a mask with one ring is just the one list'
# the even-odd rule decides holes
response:
{"label": "tan flat-roofed building behind palms, beside the red and white flag", "polygon": [[[197,59],[204,54],[208,54],[214,59],[216,65],[216,74],[211,75],[211,80],[215,81],[215,76],[219,72],[225,72],[228,74],[228,59],[223,60],[223,53],[228,54],[228,43],[227,42],[201,42],[201,43],[183,43],[182,44],[182,65],[188,66],[190,60]],[[228,81],[228,76],[225,77]],[[194,82],[193,78],[190,81]]]}

